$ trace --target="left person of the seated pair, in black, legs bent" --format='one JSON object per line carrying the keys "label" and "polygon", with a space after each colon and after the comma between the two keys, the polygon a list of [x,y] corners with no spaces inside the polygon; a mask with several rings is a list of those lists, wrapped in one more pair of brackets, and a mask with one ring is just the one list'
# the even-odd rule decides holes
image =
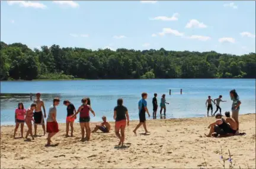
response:
{"label": "left person of the seated pair, in black, legs bent", "polygon": [[231,127],[226,123],[225,119],[222,118],[222,115],[220,113],[217,113],[215,115],[216,121],[213,122],[208,126],[210,128],[210,132],[206,137],[217,137],[217,135],[220,135],[221,137],[228,136],[231,131]]}

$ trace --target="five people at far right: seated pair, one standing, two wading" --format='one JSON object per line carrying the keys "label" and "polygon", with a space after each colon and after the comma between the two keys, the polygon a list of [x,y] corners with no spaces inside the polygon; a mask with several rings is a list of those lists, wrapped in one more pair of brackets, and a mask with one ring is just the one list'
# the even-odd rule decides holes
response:
{"label": "five people at far right: seated pair, one standing, two wading", "polygon": [[230,112],[225,112],[225,116],[226,119],[222,118],[222,114],[221,114],[221,108],[219,106],[220,102],[226,102],[221,100],[222,96],[220,95],[219,98],[212,100],[210,98],[210,96],[208,97],[208,99],[206,100],[206,103],[208,103],[207,106],[207,115],[209,112],[209,109],[212,109],[212,102],[215,103],[216,101],[216,106],[217,109],[215,111],[215,113],[218,111],[218,109],[220,110],[220,113],[217,113],[215,115],[215,113],[213,115],[215,115],[216,121],[213,122],[212,124],[210,124],[208,126],[208,128],[210,128],[209,134],[206,135],[206,137],[226,137],[226,136],[230,136],[230,135],[244,135],[245,133],[240,133],[239,134],[239,121],[238,121],[238,113],[239,113],[239,109],[240,109],[240,105],[241,105],[241,101],[239,100],[239,96],[238,93],[236,93],[236,90],[233,89],[229,92],[229,95],[231,97],[232,102],[232,117],[230,115]]}

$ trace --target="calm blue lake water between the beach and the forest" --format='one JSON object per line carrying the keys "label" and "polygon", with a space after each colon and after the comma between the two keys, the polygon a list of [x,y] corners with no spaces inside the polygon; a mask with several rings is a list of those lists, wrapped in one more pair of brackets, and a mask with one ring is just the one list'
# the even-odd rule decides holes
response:
{"label": "calm blue lake water between the beach and the forest", "polygon": [[[169,90],[172,89],[171,95]],[[180,95],[183,89],[183,95]],[[46,105],[48,114],[52,99],[59,96],[61,104],[57,107],[57,120],[65,122],[66,106],[64,99],[78,108],[81,99],[88,96],[96,116],[91,121],[101,121],[107,116],[113,121],[113,109],[118,98],[124,99],[130,118],[138,119],[137,102],[142,92],[147,92],[148,108],[152,116],[153,93],[158,93],[158,102],[165,94],[167,102],[167,118],[187,118],[206,115],[205,102],[207,96],[213,99],[223,96],[220,107],[222,111],[231,111],[229,90],[236,89],[242,105],[239,113],[255,113],[255,79],[168,79],[168,80],[81,80],[81,81],[43,81],[43,82],[1,82],[1,93],[42,93],[41,99]],[[35,98],[33,97],[33,100]],[[14,124],[14,110],[21,101],[25,108],[31,104],[30,98],[1,99],[1,125]],[[213,111],[216,107],[213,106]],[[152,118],[152,117],[151,117]],[[159,118],[159,111],[158,117]],[[76,120],[78,122],[78,120]]]}

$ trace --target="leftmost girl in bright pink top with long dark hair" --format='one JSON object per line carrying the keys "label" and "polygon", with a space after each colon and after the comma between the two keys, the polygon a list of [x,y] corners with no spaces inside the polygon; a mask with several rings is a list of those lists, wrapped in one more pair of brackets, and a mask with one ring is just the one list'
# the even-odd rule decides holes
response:
{"label": "leftmost girl in bright pink top with long dark hair", "polygon": [[26,113],[26,110],[24,109],[23,103],[22,102],[18,103],[18,108],[15,109],[15,124],[16,125],[15,125],[15,129],[14,129],[14,138],[15,138],[15,134],[16,134],[20,124],[21,124],[21,138],[23,138],[25,113]]}

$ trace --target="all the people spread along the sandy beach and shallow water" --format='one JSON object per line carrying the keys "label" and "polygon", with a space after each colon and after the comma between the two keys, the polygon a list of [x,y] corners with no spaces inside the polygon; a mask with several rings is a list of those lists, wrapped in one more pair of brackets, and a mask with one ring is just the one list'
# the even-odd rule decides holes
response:
{"label": "all the people spread along the sandy beach and shallow water", "polygon": [[[231,90],[230,92],[231,99],[233,100],[232,103],[232,118],[230,117],[230,113],[226,112],[226,120],[222,118],[221,115],[221,108],[219,106],[220,102],[225,102],[221,98],[220,95],[219,98],[212,100],[209,96],[209,99],[206,100],[207,106],[207,114],[209,113],[209,109],[212,108],[212,102],[215,103],[216,101],[216,112],[220,110],[220,113],[215,113],[216,121],[213,124],[209,125],[210,132],[207,137],[210,136],[216,136],[216,135],[229,135],[229,134],[239,134],[239,121],[238,121],[238,112],[241,105],[241,101],[239,100],[239,96],[236,93],[235,90]],[[53,99],[53,105],[49,108],[49,113],[47,117],[47,124],[46,127],[44,125],[44,118],[46,118],[46,110],[44,106],[43,100],[40,99],[41,94],[36,94],[36,100],[31,104],[30,108],[27,110],[24,108],[24,105],[22,102],[18,103],[18,108],[15,109],[15,129],[14,129],[14,138],[15,134],[18,130],[18,127],[21,125],[21,137],[23,137],[23,129],[24,129],[24,123],[28,126],[27,134],[25,135],[25,138],[28,139],[28,135],[31,136],[32,139],[34,139],[34,135],[37,135],[37,125],[41,125],[44,131],[44,135],[46,132],[48,133],[47,137],[47,144],[46,146],[51,145],[52,143],[52,137],[59,132],[59,127],[57,124],[56,116],[57,116],[57,109],[56,107],[60,103],[59,98]],[[154,98],[152,99],[153,104],[153,118],[156,118],[156,111],[158,109],[158,102],[157,102],[157,94],[154,94]],[[133,132],[136,134],[137,129],[140,126],[143,126],[145,129],[145,134],[147,134],[149,131],[146,128],[146,113],[148,113],[148,116],[150,117],[148,108],[147,108],[147,102],[146,99],[148,98],[147,93],[142,93],[142,99],[139,100],[138,108],[139,108],[139,124],[137,124],[136,128],[133,130]],[[78,110],[76,111],[75,106],[69,102],[69,100],[64,100],[63,105],[67,106],[67,116],[66,116],[66,137],[69,137],[69,127],[71,127],[71,137],[73,137],[73,122],[76,119],[76,115],[79,113],[79,124],[81,126],[81,141],[89,141],[91,137],[91,129],[89,126],[90,121],[90,115],[89,112],[92,113],[93,116],[95,116],[95,112],[91,108],[91,100],[89,98],[83,98],[81,100],[82,105],[79,106]],[[164,109],[164,115],[166,115],[166,100],[165,95],[162,95],[161,103],[160,103],[160,114],[162,115],[162,110]],[[169,104],[169,103],[167,103]],[[43,112],[41,109],[43,108]],[[123,99],[117,100],[117,106],[114,108],[114,115],[113,118],[115,120],[115,133],[117,138],[119,138],[119,145],[123,146],[124,143],[124,130],[126,128],[126,125],[129,125],[129,113],[128,109],[123,105]],[[110,124],[107,122],[107,118],[105,116],[102,117],[103,122],[101,124],[98,124],[95,126],[94,130],[92,132],[96,132],[98,130],[102,132],[109,132],[110,131]],[[34,135],[32,133],[32,121],[34,123]]]}

